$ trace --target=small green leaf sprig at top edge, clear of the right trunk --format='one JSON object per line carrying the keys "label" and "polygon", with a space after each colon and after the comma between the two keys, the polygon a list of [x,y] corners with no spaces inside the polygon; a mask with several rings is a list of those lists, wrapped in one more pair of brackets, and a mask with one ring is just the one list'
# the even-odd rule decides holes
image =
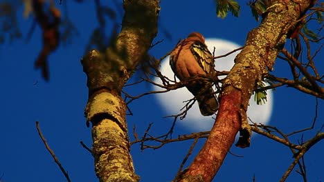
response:
{"label": "small green leaf sprig at top edge, clear of the right trunk", "polygon": [[234,17],[239,16],[240,5],[234,0],[215,0],[217,17],[224,19],[230,11]]}

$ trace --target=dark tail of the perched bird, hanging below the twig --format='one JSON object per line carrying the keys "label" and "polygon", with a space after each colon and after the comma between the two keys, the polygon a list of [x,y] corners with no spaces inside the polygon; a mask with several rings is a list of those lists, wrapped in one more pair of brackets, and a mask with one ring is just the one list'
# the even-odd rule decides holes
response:
{"label": "dark tail of the perched bird, hanging below the twig", "polygon": [[209,88],[206,92],[197,97],[197,101],[199,110],[203,116],[213,115],[218,110],[219,103],[212,88]]}

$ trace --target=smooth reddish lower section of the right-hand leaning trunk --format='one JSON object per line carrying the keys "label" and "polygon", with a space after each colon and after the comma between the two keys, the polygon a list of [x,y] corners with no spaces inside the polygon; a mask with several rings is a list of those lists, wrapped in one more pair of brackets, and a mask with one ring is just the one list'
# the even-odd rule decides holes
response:
{"label": "smooth reddish lower section of the right-hand leaning trunk", "polygon": [[186,173],[190,180],[211,181],[240,130],[241,92],[233,87],[227,89],[228,94],[222,96],[217,120],[210,131],[208,141]]}

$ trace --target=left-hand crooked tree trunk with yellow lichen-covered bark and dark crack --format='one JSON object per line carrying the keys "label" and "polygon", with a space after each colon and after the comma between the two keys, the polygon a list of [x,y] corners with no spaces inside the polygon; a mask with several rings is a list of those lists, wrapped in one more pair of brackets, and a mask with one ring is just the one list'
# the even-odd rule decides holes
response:
{"label": "left-hand crooked tree trunk with yellow lichen-covered bark and dark crack", "polygon": [[145,58],[157,33],[159,1],[124,0],[123,28],[106,52],[92,50],[83,59],[89,100],[93,156],[100,181],[139,181],[129,154],[126,105],[121,89]]}

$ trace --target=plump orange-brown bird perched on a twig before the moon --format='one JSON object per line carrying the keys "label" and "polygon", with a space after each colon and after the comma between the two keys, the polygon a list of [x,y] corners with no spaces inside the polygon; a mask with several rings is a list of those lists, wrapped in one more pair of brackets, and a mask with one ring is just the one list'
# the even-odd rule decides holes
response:
{"label": "plump orange-brown bird perched on a twig before the moon", "polygon": [[[170,52],[170,67],[180,81],[199,76],[217,78],[213,54],[199,32],[190,33]],[[203,116],[215,114],[219,107],[212,85],[213,82],[206,79],[192,79],[186,84],[186,88],[197,99]]]}

